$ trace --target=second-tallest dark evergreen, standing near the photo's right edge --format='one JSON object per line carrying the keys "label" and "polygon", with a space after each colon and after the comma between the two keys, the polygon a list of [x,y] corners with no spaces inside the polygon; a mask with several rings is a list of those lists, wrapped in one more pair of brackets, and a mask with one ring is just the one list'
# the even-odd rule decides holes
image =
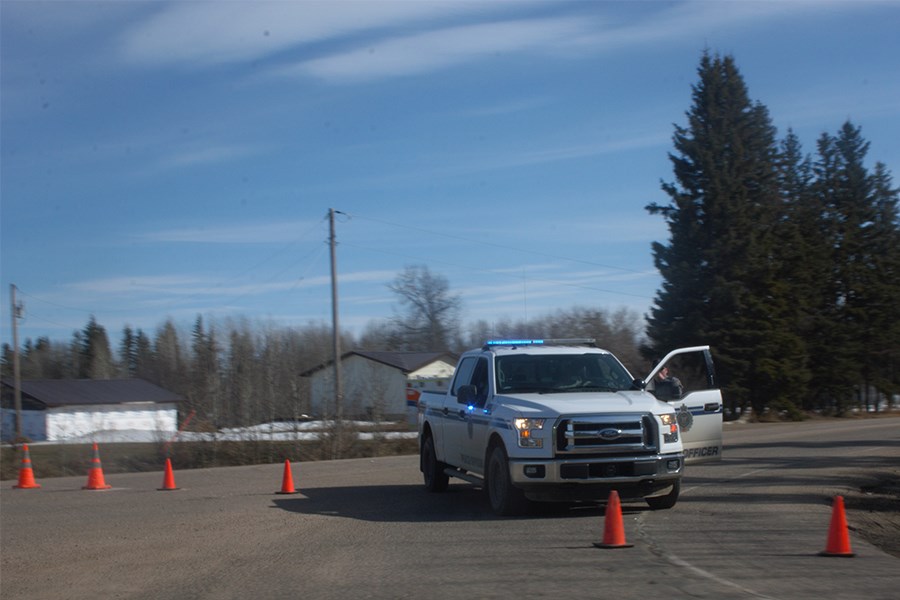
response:
{"label": "second-tallest dark evergreen, standing near the photo's right edge", "polygon": [[895,345],[879,330],[896,322],[896,278],[885,278],[896,242],[896,227],[886,224],[896,191],[883,168],[868,173],[868,149],[860,129],[846,122],[836,136],[820,136],[815,165],[831,270],[818,307],[812,387],[817,404],[837,414],[865,402],[879,356]]}

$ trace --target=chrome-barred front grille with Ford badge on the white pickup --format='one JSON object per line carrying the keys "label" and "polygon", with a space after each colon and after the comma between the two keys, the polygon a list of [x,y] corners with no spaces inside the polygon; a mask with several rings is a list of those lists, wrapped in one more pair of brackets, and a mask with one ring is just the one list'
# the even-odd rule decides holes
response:
{"label": "chrome-barred front grille with Ford badge on the white pickup", "polygon": [[599,415],[561,419],[556,451],[567,454],[655,452],[656,421],[651,415]]}

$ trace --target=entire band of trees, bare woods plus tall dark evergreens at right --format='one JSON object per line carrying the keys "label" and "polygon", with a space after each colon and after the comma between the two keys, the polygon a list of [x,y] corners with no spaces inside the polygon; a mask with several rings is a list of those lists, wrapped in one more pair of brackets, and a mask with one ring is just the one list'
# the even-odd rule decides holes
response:
{"label": "entire band of trees, bare woods plus tall dark evergreens at right", "polygon": [[[573,307],[463,325],[447,279],[413,265],[387,286],[396,316],[344,332],[341,347],[459,352],[491,337],[590,337],[641,376],[671,349],[709,344],[730,416],[896,403],[900,190],[889,170],[867,166],[869,143],[850,121],[822,133],[812,155],[791,130],[779,139],[730,56],[705,53],[698,75],[673,134],[669,202],[646,207],[669,231],[651,248],[662,286],[649,314]],[[301,373],[331,348],[328,324],[198,315],[189,331],[171,320],[152,335],[126,327],[114,351],[92,317],[68,343],[26,340],[22,376],[144,378],[186,399],[193,428],[218,428],[309,414]],[[4,345],[4,377],[11,352]]]}

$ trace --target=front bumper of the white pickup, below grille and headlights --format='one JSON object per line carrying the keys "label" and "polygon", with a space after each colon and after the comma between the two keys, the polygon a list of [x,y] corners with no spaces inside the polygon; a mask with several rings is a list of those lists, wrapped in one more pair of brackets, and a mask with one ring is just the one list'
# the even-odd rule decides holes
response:
{"label": "front bumper of the white pickup, below grille and headlights", "polygon": [[605,500],[610,490],[638,499],[667,492],[681,478],[684,455],[510,458],[513,485],[533,500]]}

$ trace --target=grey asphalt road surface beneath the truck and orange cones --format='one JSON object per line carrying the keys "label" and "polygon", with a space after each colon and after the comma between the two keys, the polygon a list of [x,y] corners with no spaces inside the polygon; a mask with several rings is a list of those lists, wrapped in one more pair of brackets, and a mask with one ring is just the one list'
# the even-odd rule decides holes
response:
{"label": "grey asphalt road surface beneath the truck and orange cones", "polygon": [[4,482],[0,598],[900,597],[900,559],[853,533],[818,555],[832,498],[900,464],[900,419],[729,427],[725,457],[672,510],[625,504],[616,549],[598,507],[496,518],[413,456],[294,464],[293,495],[282,464]]}

